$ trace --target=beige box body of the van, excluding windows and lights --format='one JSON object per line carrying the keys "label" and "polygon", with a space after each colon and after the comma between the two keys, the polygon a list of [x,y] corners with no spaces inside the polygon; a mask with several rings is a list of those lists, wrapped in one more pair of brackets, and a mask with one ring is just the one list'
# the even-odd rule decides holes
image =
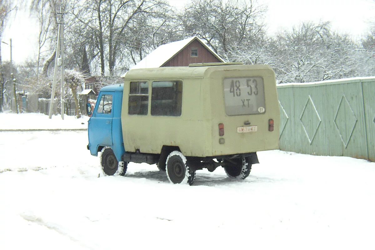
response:
{"label": "beige box body of the van, excluding windows and lights", "polygon": [[[264,82],[265,112],[227,115],[223,81],[226,78],[261,77]],[[182,81],[181,116],[152,116],[151,83]],[[129,115],[130,82],[147,81],[148,114]],[[233,94],[234,95],[234,94]],[[269,131],[269,119],[274,131]],[[177,146],[185,156],[221,156],[279,148],[280,110],[275,73],[264,65],[223,65],[134,69],[124,76],[121,111],[124,148],[128,152],[160,154],[163,145]],[[219,136],[218,124],[224,124]],[[250,125],[244,125],[250,124]],[[239,133],[238,127],[257,126],[256,132]],[[225,142],[219,143],[223,138]]]}

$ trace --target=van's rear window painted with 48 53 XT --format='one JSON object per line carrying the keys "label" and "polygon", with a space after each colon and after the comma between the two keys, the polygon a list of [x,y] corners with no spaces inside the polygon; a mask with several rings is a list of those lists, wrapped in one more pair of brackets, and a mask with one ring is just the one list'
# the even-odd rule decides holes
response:
{"label": "van's rear window painted with 48 53 XT", "polygon": [[227,115],[252,115],[266,112],[263,77],[224,78]]}

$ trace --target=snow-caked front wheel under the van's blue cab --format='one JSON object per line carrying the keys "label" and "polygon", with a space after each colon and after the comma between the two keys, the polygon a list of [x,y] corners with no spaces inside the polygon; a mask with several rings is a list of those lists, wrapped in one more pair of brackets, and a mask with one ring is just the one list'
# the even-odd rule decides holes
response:
{"label": "snow-caked front wheel under the van's blue cab", "polygon": [[100,162],[104,175],[124,176],[126,173],[127,162],[118,162],[112,148],[103,148]]}

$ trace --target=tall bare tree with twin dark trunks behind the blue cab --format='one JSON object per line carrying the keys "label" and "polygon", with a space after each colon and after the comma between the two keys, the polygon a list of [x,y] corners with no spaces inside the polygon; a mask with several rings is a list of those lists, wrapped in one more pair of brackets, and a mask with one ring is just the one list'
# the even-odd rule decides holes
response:
{"label": "tall bare tree with twin dark trunks behind the blue cab", "polygon": [[[110,75],[114,75],[117,60],[124,59],[125,51],[129,51],[136,41],[140,42],[138,37],[134,36],[136,33],[131,32],[136,28],[145,30],[143,26],[137,25],[140,17],[142,16],[143,21],[150,21],[146,25],[148,27],[151,20],[155,20],[150,16],[163,15],[166,9],[170,9],[170,6],[164,0],[95,0],[83,3],[81,8],[73,11],[73,14],[81,22],[81,27],[77,28],[82,30],[85,36],[92,38],[92,44],[85,40],[88,60],[94,60],[96,55],[99,55],[101,75],[104,76],[106,72],[106,62]],[[161,24],[163,25],[163,22]],[[160,22],[155,24],[157,25],[160,25]],[[129,36],[130,34],[133,36]],[[142,57],[148,46],[138,47],[141,47],[138,54]],[[134,50],[131,50],[130,57],[133,52]],[[121,62],[124,61],[126,60]]]}

